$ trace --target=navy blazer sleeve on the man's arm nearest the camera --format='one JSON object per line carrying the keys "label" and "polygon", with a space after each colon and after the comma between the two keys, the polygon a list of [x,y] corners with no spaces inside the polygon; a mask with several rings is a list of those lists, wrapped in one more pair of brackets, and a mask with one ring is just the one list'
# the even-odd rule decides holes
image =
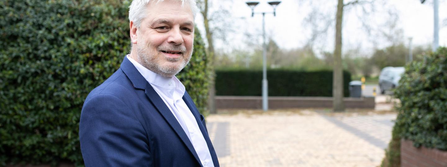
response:
{"label": "navy blazer sleeve on the man's arm nearest the camera", "polygon": [[86,167],[153,166],[146,131],[114,95],[99,94],[85,102],[79,138]]}

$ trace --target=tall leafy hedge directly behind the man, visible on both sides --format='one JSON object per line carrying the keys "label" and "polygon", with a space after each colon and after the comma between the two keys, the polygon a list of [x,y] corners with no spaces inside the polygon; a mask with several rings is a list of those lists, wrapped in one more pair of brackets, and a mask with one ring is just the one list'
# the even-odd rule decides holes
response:
{"label": "tall leafy hedge directly behind the man, visible on both sides", "polygon": [[[0,1],[0,166],[83,165],[81,107],[129,53],[129,5],[129,0]],[[203,112],[207,57],[197,33],[190,65],[177,76]]]}

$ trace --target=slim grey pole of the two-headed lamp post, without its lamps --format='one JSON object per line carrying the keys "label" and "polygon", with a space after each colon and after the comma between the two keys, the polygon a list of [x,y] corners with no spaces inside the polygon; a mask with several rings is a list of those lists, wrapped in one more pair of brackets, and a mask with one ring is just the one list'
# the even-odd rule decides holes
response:
{"label": "slim grey pole of the two-headed lamp post, without its lamps", "polygon": [[266,56],[266,28],[265,15],[262,13],[262,109],[267,111],[269,109],[268,100],[268,81],[267,81],[267,56]]}

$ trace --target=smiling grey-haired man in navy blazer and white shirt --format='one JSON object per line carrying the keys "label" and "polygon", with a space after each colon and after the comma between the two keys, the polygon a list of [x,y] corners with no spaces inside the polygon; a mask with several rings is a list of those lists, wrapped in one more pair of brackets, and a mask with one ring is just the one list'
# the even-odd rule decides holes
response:
{"label": "smiling grey-haired man in navy blazer and white shirt", "polygon": [[82,108],[85,166],[219,166],[205,120],[174,76],[191,58],[196,11],[194,0],[131,3],[131,53]]}

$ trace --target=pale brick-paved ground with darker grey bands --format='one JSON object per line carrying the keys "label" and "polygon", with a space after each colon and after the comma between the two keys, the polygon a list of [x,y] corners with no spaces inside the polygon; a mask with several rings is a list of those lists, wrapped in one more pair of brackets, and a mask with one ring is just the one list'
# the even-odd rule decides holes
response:
{"label": "pale brick-paved ground with darker grey bands", "polygon": [[376,167],[396,114],[277,110],[207,117],[222,167]]}

